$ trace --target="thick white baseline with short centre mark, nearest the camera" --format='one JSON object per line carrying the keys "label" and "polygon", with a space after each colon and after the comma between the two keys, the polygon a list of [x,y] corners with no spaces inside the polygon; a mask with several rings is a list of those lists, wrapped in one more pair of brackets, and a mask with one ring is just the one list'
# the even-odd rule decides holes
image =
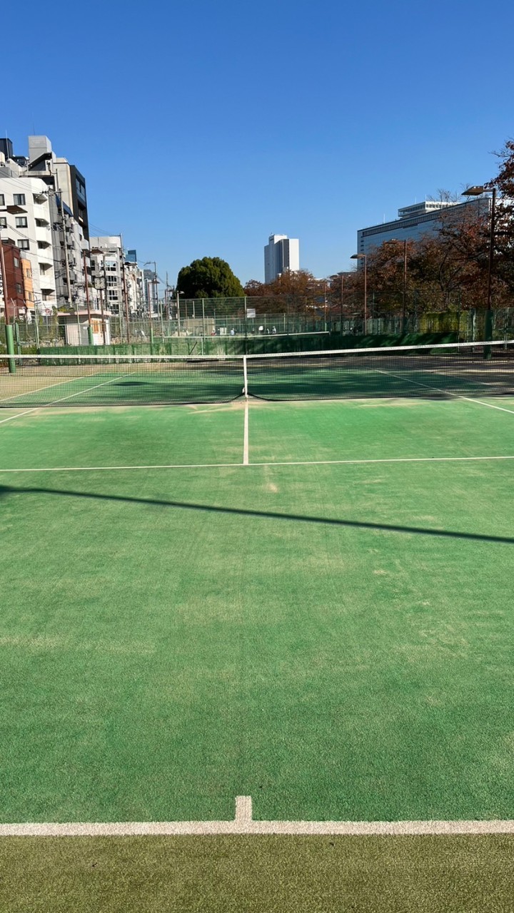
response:
{"label": "thick white baseline with short centre mark, nearest the camera", "polygon": [[233,821],[0,824],[0,837],[125,837],[185,834],[514,834],[514,821],[254,821],[252,796],[236,796],[236,813]]}

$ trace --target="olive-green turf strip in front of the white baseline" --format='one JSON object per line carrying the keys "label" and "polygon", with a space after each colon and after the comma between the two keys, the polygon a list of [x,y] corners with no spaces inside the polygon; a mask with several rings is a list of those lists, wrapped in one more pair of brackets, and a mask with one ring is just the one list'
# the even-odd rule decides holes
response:
{"label": "olive-green turf strip in front of the white baseline", "polygon": [[0,839],[5,913],[507,913],[509,837]]}

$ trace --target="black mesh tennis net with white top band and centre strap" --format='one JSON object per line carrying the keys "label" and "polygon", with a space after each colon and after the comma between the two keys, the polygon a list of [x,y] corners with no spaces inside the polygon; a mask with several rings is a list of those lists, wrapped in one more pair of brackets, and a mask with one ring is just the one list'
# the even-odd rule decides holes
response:
{"label": "black mesh tennis net with white top band and centre strap", "polygon": [[0,406],[514,394],[514,341],[267,355],[0,355]]}

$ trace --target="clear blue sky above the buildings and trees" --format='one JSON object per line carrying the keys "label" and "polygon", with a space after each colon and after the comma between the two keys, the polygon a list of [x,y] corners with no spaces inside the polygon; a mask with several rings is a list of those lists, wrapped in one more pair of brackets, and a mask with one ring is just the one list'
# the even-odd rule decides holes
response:
{"label": "clear blue sky above the buildings and trees", "polygon": [[206,256],[262,280],[272,233],[317,277],[348,269],[358,228],[486,181],[514,136],[511,0],[51,8],[11,16],[0,131],[17,154],[47,134],[92,233],[171,284]]}

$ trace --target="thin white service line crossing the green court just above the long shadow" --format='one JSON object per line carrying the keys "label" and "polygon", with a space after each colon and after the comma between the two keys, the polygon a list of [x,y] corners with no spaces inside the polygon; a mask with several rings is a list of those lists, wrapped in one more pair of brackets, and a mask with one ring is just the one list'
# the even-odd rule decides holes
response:
{"label": "thin white service line crossing the green court just above the long shadow", "polygon": [[[16,417],[16,416],[15,416]],[[125,470],[141,469],[239,469],[241,466],[273,467],[273,466],[366,466],[377,463],[469,463],[477,460],[509,460],[513,456],[391,456],[381,459],[316,459],[316,460],[284,460],[273,463],[166,463],[148,466],[50,466],[28,469],[3,469],[0,473],[16,472],[124,472]]]}

